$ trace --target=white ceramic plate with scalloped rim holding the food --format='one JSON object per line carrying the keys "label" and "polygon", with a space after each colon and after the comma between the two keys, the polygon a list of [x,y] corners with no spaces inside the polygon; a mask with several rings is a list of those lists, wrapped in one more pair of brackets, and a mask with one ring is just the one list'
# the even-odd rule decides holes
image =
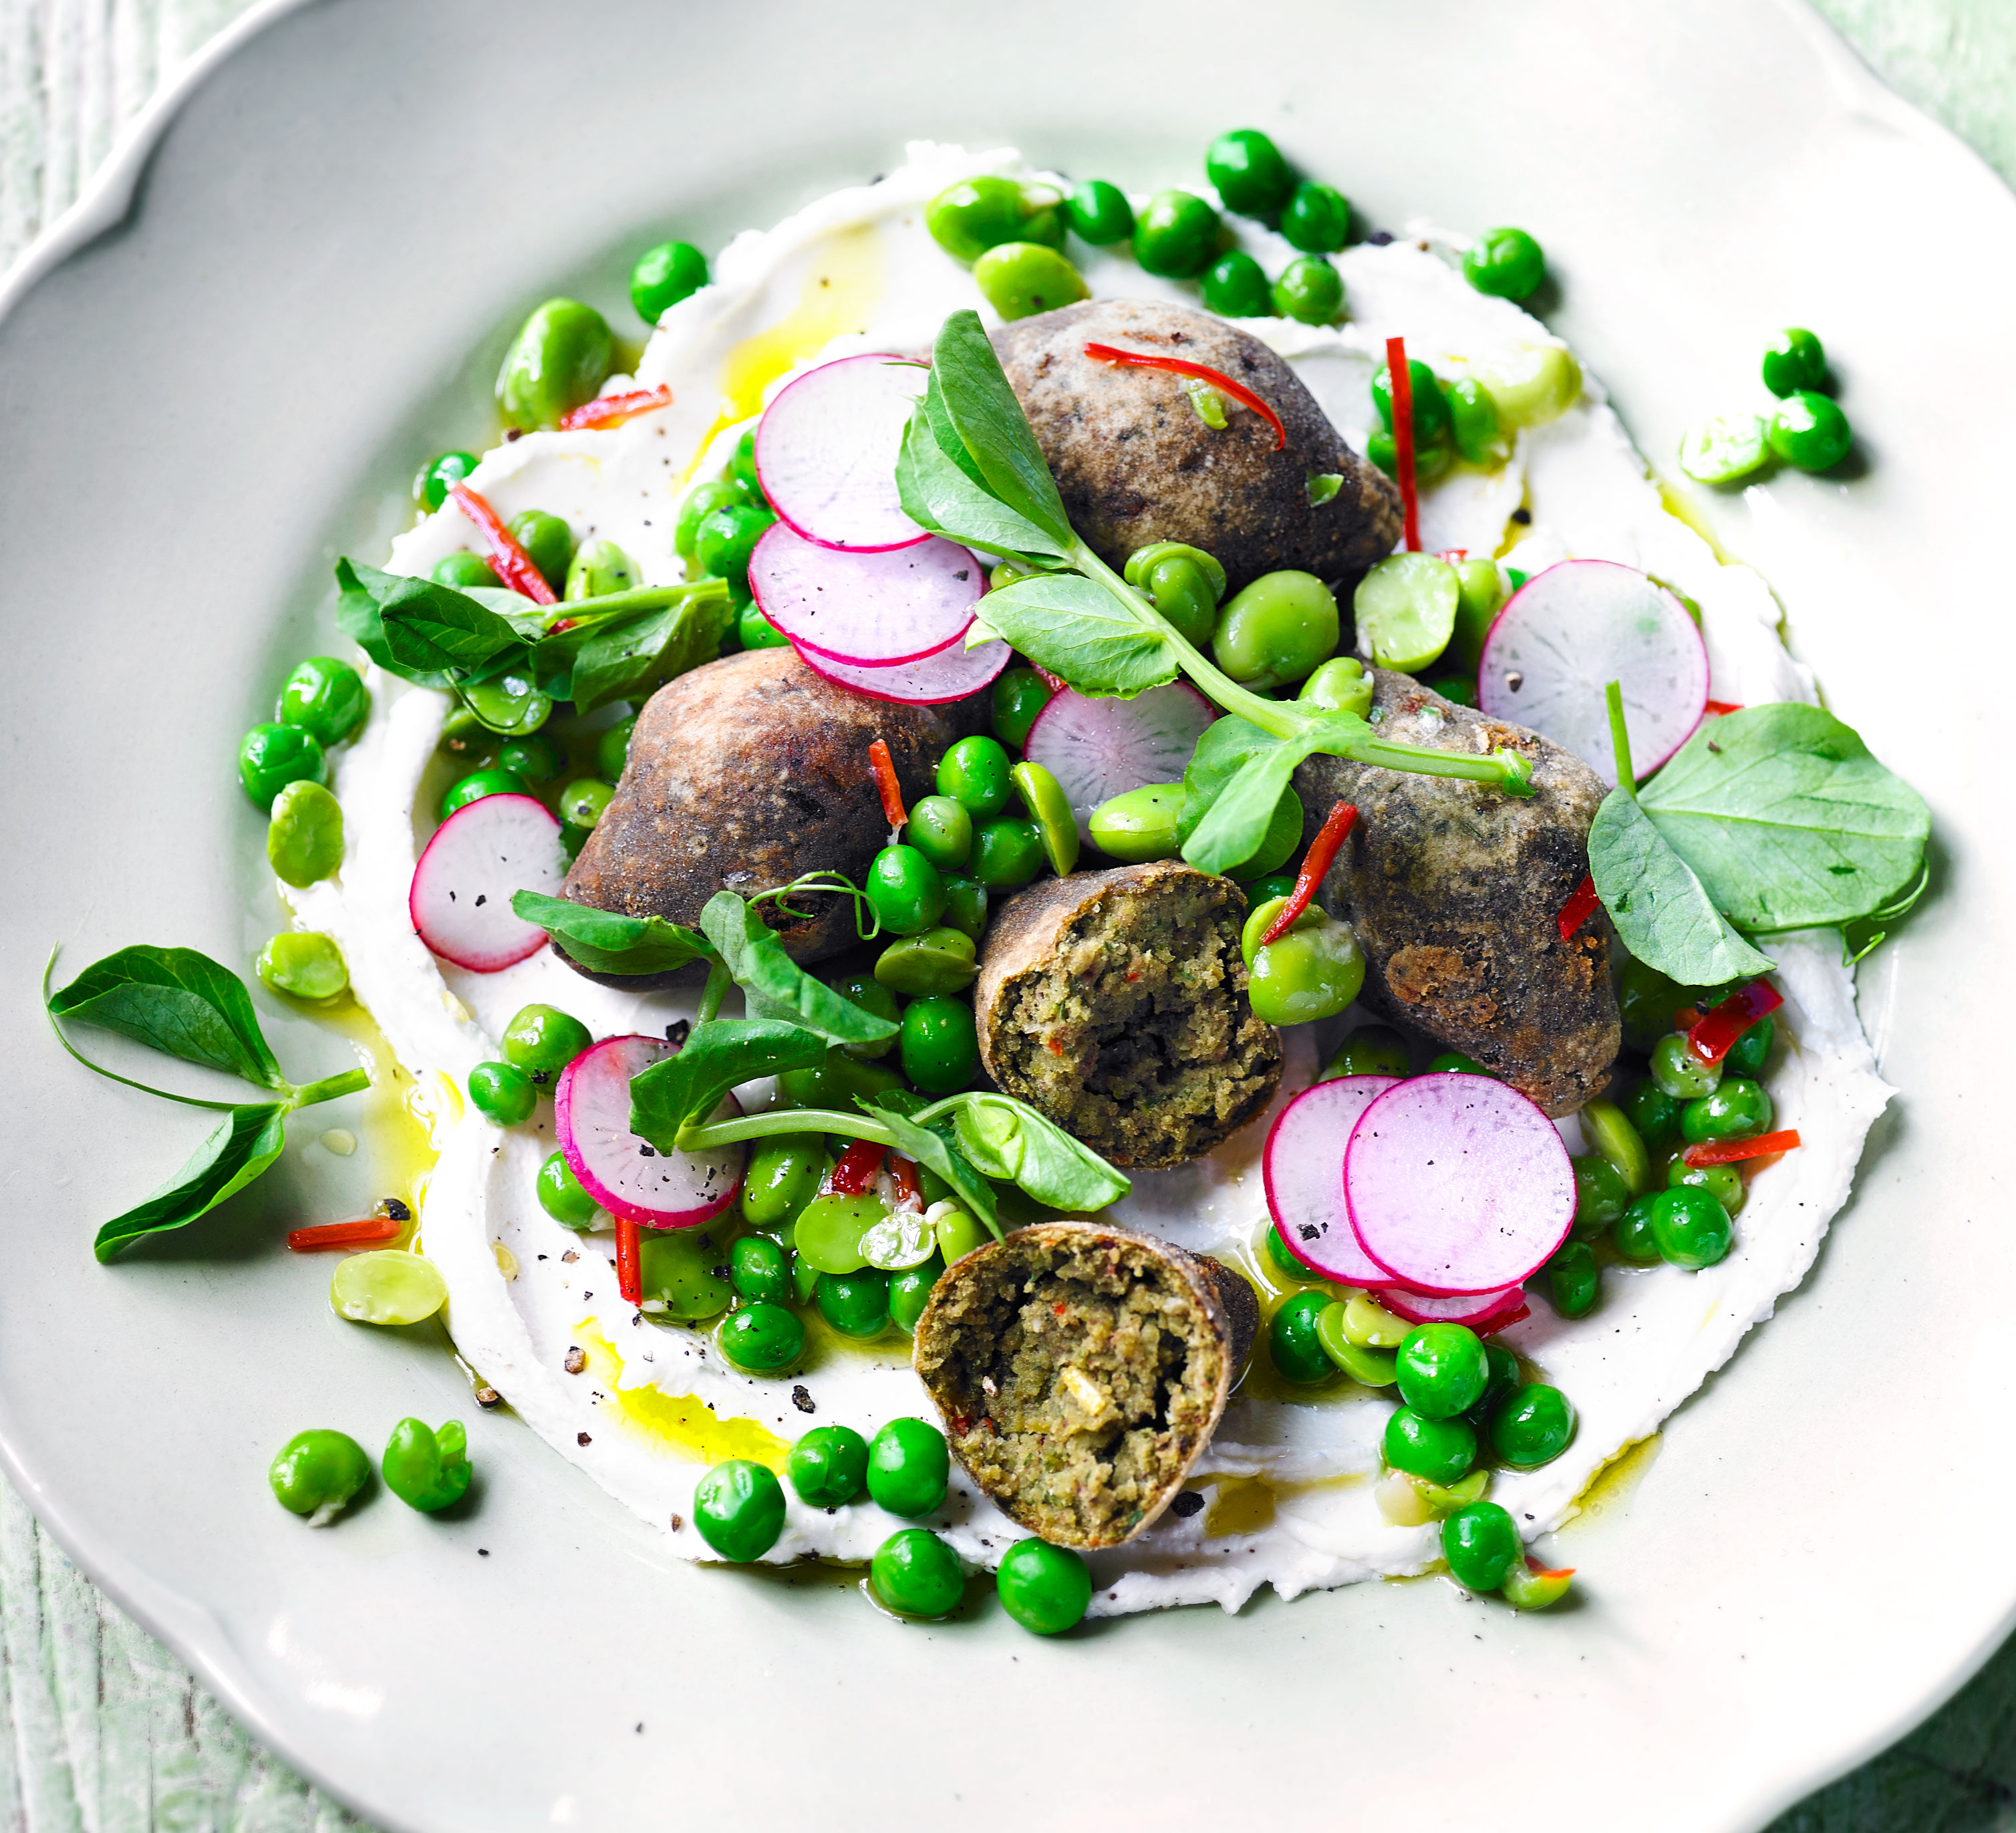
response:
{"label": "white ceramic plate with scalloped rim holding the food", "polygon": [[[167,119],[133,216],[0,325],[10,1145],[8,1468],[230,1708],[403,1829],[1276,1823],[1750,1829],[1935,1706],[2016,1615],[2002,1032],[2016,200],[1790,4],[1024,0],[837,8],[341,0]],[[1867,470],[1699,504],[1831,704],[1931,801],[1937,895],[1865,976],[1905,1093],[1808,1287],[1562,1537],[1581,1603],[1439,1583],[901,1629],[851,1591],[671,1563],[502,1418],[480,1506],[306,1535],[264,1464],[308,1420],[472,1416],[429,1341],[359,1331],[278,1230],[325,1153],[99,1268],[91,1228],[202,1131],[89,1081],[34,976],[276,926],[238,732],[327,631],[415,460],[480,442],[516,317],[611,309],[907,135],[1125,181],[1258,123],[1375,222],[1522,222],[1558,329],[1647,452],[1820,329]],[[107,212],[109,214],[109,212]],[[79,238],[81,240],[81,238]],[[56,254],[65,252],[60,246]],[[1915,667],[1927,667],[1925,678]],[[341,1047],[274,1020],[282,1061]],[[317,1071],[321,1073],[321,1071]],[[302,1137],[312,1137],[312,1127]],[[349,1178],[349,1186],[343,1184]]]}

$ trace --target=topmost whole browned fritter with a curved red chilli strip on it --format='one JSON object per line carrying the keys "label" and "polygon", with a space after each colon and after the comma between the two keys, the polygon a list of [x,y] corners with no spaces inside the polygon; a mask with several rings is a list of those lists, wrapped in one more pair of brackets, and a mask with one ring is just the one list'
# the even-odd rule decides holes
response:
{"label": "topmost whole browned fritter with a curved red chilli strip on it", "polygon": [[[1226,401],[1200,419],[1183,377],[1099,363],[1087,343],[1181,357],[1244,383],[1288,430]],[[1399,540],[1399,492],[1337,436],[1302,379],[1256,337],[1189,307],[1095,298],[994,333],[1008,383],[1050,462],[1070,526],[1109,567],[1137,546],[1183,540],[1216,555],[1228,591],[1294,567],[1355,581]],[[1343,478],[1320,508],[1312,478]]]}

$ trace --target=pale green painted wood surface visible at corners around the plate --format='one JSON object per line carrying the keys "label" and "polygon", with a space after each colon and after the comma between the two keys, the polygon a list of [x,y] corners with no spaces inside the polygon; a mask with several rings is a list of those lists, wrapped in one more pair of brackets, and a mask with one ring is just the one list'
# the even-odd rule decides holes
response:
{"label": "pale green painted wood surface visible at corners around the plate", "polygon": [[[0,0],[0,268],[244,4]],[[1895,89],[2016,181],[2016,0],[1818,6]],[[0,1833],[343,1827],[361,1823],[246,1738],[0,1484]],[[1772,1833],[1990,1829],[2016,1833],[2016,1641],[1923,1730]]]}

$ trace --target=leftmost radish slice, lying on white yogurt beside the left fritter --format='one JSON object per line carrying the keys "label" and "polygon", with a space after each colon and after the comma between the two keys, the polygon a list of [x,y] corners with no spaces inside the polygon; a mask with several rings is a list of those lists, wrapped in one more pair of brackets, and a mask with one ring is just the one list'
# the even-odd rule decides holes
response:
{"label": "leftmost radish slice, lying on white yogurt beside the left fritter", "polygon": [[510,907],[512,891],[560,895],[560,823],[532,797],[464,803],[427,841],[405,897],[413,930],[444,962],[496,974],[538,954],[546,932]]}

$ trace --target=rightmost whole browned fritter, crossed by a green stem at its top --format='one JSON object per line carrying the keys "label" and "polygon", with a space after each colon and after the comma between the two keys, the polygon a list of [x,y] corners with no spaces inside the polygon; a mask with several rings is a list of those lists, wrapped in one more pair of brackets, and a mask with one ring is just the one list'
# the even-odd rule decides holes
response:
{"label": "rightmost whole browned fritter, crossed by a green stem at its top", "polygon": [[1294,772],[1310,833],[1333,803],[1359,811],[1318,895],[1357,930],[1363,998],[1476,1057],[1550,1115],[1572,1113],[1603,1091],[1621,1043],[1609,918],[1597,911],[1566,942],[1556,922],[1589,871],[1603,784],[1524,726],[1391,669],[1373,669],[1373,682],[1381,738],[1516,750],[1532,760],[1534,795],[1329,756]]}

